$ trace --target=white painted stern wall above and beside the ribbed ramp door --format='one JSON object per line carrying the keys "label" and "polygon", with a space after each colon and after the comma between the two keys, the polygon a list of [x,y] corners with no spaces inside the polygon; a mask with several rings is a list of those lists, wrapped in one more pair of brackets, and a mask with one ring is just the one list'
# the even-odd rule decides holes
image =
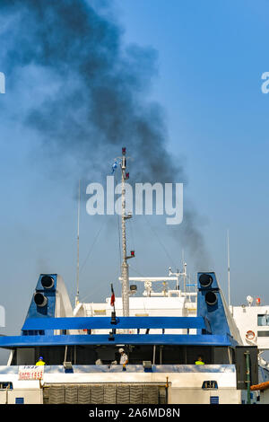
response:
{"label": "white painted stern wall above and beside the ribbed ramp door", "polygon": [[[43,391],[42,386],[46,384],[94,384],[94,383],[160,383],[169,382],[169,404],[177,403],[201,403],[209,404],[210,396],[218,396],[221,404],[239,404],[241,400],[240,391],[236,390],[236,373],[233,365],[204,365],[203,372],[196,365],[178,365],[182,366],[182,372],[161,372],[161,373],[144,373],[144,372],[74,372],[74,374],[63,374],[62,367],[48,366],[45,368],[43,380],[38,381],[19,381],[16,374],[18,367],[12,367],[6,371],[7,367],[0,366],[0,383],[13,382],[13,390],[0,390],[0,403],[14,403],[15,398],[23,398],[24,403],[42,403]],[[188,366],[188,368],[184,368]],[[215,366],[215,371],[213,371]],[[74,367],[75,368],[75,367]],[[187,372],[186,370],[187,369]],[[3,372],[7,374],[3,374]],[[85,371],[87,368],[85,367]],[[9,374],[8,374],[9,372]],[[204,381],[217,381],[218,390],[202,389]]]}

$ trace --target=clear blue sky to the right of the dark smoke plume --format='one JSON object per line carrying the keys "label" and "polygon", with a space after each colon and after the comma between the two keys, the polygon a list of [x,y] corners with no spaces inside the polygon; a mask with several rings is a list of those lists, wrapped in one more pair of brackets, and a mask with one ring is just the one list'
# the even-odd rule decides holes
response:
{"label": "clear blue sky to the right of the dark smoke plume", "polygon": [[229,228],[232,298],[244,302],[247,285],[268,301],[268,2],[138,0],[118,8],[126,42],[159,52],[154,96],[166,110],[170,150],[186,157],[187,191],[223,289]]}

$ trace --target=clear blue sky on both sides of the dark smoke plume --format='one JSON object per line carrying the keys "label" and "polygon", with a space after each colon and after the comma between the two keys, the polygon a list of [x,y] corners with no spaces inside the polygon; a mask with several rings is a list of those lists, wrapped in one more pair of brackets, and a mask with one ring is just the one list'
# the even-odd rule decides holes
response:
{"label": "clear blue sky on both sides of the dark smoke plume", "polygon": [[[114,5],[123,46],[150,47],[158,55],[158,73],[146,99],[161,104],[169,152],[184,162],[186,196],[204,234],[208,269],[216,272],[225,294],[230,230],[235,304],[244,303],[247,295],[269,302],[269,94],[261,92],[261,75],[269,71],[268,9],[267,1],[117,0]],[[4,68],[0,60],[0,71]],[[74,302],[78,178],[70,175],[56,152],[52,159],[17,115],[19,106],[23,113],[30,101],[42,100],[48,91],[52,76],[45,74],[45,83],[40,84],[39,71],[31,69],[30,90],[20,87],[21,76],[23,83],[27,81],[23,69],[16,89],[6,75],[6,93],[0,94],[5,110],[0,112],[4,334],[21,329],[40,272],[61,274]],[[131,275],[166,275],[170,265],[180,265],[184,244],[158,220],[152,219],[152,226],[155,238],[143,217],[131,223],[129,246],[137,257]],[[109,295],[110,282],[119,294],[117,217],[90,217],[82,206],[82,263],[89,251],[81,274],[82,298],[102,300]],[[185,253],[195,277],[197,268]]]}

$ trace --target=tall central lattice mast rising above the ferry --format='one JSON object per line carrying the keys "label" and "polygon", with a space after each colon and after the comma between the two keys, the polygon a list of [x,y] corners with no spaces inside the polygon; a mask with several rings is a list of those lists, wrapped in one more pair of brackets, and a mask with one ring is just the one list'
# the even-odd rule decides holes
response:
{"label": "tall central lattice mast rising above the ferry", "polygon": [[129,266],[126,258],[126,156],[123,154],[121,161],[121,228],[122,228],[122,310],[123,316],[129,316]]}

